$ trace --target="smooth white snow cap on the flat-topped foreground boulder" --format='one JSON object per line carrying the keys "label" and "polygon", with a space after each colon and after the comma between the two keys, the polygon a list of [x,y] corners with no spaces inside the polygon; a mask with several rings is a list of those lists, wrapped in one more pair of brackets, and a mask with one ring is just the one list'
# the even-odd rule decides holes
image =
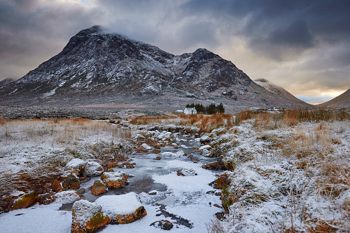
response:
{"label": "smooth white snow cap on the flat-topped foreground boulder", "polygon": [[102,211],[109,217],[132,214],[142,206],[135,192],[129,192],[125,195],[107,195],[99,197],[96,199],[95,203],[98,203],[98,205],[102,207]]}

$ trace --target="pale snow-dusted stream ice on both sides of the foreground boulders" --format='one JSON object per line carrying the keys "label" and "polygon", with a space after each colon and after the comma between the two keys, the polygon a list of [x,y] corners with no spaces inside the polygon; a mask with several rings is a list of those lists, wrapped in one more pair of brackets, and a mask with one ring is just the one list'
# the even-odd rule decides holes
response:
{"label": "pale snow-dusted stream ice on both sides of the foreground boulders", "polygon": [[[98,232],[164,232],[150,226],[160,220],[168,220],[174,227],[171,232],[207,232],[206,224],[211,223],[216,212],[221,209],[213,206],[221,204],[219,197],[207,194],[214,190],[208,184],[215,179],[215,172],[201,168],[203,164],[212,161],[203,155],[194,153],[194,148],[200,144],[186,144],[188,148],[174,149],[171,146],[162,148],[159,155],[138,153],[131,155],[135,168],[113,168],[133,175],[130,184],[121,189],[110,189],[106,195],[121,195],[136,192],[140,197],[147,215],[138,221],[124,225],[107,225]],[[174,156],[171,153],[185,151],[193,153],[200,162],[194,164],[187,156]],[[171,153],[169,153],[171,152]],[[161,160],[154,158],[160,156]],[[177,176],[181,168],[192,169],[197,173],[193,176]],[[81,185],[86,192],[83,199],[95,201],[98,197],[91,195],[89,187],[98,179],[96,177]],[[15,210],[0,215],[1,232],[70,232],[72,224],[71,205],[61,208],[58,203],[47,206],[35,205],[28,209]]]}

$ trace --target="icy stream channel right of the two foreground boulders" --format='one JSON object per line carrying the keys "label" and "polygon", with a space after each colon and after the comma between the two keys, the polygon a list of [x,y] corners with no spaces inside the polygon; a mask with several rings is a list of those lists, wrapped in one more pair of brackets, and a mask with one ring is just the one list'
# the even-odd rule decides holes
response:
{"label": "icy stream channel right of the two foreground boulders", "polygon": [[[203,146],[194,137],[178,135],[176,138],[179,148],[164,146],[160,154],[135,153],[129,155],[129,162],[135,163],[135,168],[113,168],[131,175],[129,185],[120,189],[109,189],[104,195],[122,195],[135,192],[140,197],[146,217],[125,225],[107,225],[99,232],[155,232],[158,230],[150,224],[154,221],[168,220],[173,223],[173,231],[178,232],[206,232],[206,224],[214,218],[220,208],[213,206],[221,204],[219,197],[208,184],[215,179],[215,174],[222,170],[205,170],[204,164],[214,162],[217,158],[205,157],[195,152]],[[152,151],[153,147],[151,150]],[[181,155],[184,151],[187,155]],[[193,159],[188,155],[192,154]],[[156,160],[160,156],[162,159]],[[197,163],[194,163],[198,161]],[[197,175],[178,176],[177,170],[184,168],[192,170]],[[91,194],[91,186],[96,179],[80,184],[85,189],[82,199],[94,202],[100,196]],[[214,191],[214,192],[212,192]],[[71,204],[63,205],[60,210],[72,210]]]}

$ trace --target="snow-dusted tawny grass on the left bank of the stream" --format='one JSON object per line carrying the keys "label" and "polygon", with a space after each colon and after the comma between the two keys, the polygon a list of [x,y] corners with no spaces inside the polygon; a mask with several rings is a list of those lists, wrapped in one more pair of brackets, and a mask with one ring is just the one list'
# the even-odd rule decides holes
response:
{"label": "snow-dusted tawny grass on the left bank of the stream", "polygon": [[73,158],[101,164],[132,151],[131,131],[85,118],[3,120],[0,201],[14,190],[50,183]]}

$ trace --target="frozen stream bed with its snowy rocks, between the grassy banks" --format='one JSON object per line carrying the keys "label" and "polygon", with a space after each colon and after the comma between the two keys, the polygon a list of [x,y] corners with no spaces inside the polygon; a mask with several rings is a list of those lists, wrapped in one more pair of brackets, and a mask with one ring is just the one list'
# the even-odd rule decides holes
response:
{"label": "frozen stream bed with its snowy rocks, between the grassy banks", "polygon": [[[159,134],[159,131],[157,132]],[[118,165],[110,164],[108,172],[105,168],[102,176],[100,169],[100,173],[97,173],[99,175],[80,178],[80,186],[73,188],[75,191],[65,189],[63,192],[57,192],[54,202],[49,201],[49,204],[44,205],[42,201],[41,205],[36,203],[29,208],[19,208],[1,214],[1,232],[86,230],[86,226],[91,223],[91,219],[86,223],[89,221],[86,220],[87,217],[96,217],[96,214],[99,214],[99,221],[109,223],[98,223],[98,227],[91,228],[98,229],[98,232],[162,232],[170,229],[173,232],[206,232],[207,224],[215,218],[215,213],[222,212],[219,206],[221,192],[209,185],[221,170],[202,168],[217,160],[217,157],[211,156],[214,148],[204,145],[203,141],[200,142],[198,135],[195,137],[192,134],[166,131],[162,133],[164,138],[171,140],[158,137],[159,142],[140,144],[138,153],[128,155],[124,166],[120,166],[122,162]],[[154,131],[151,134],[154,134]],[[75,159],[70,165],[67,164],[66,173],[74,174],[72,170],[76,173],[76,177],[72,179],[78,178],[77,168],[81,163],[83,162]],[[93,165],[90,166],[94,167]],[[87,162],[84,166],[87,166]],[[113,177],[116,174],[119,177],[124,175],[125,179],[120,178],[123,179],[123,185],[113,188],[107,180],[108,176]],[[60,184],[64,183],[65,180],[62,179]],[[105,186],[103,183],[108,191],[93,195],[91,191],[96,192],[96,184]],[[53,186],[54,184],[50,188]],[[129,221],[126,215],[121,219],[111,217],[111,213],[123,212],[124,209],[135,206],[135,203],[137,208],[142,206],[144,210],[142,209],[140,214],[133,213],[132,221]],[[91,210],[96,212],[91,213]],[[136,215],[138,216],[135,217]]]}

